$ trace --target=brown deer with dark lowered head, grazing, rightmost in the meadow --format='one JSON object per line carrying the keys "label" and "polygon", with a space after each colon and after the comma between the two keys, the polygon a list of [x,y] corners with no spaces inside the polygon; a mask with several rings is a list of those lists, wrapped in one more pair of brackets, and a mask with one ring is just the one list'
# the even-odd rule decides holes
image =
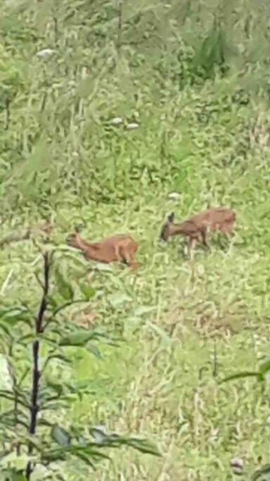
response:
{"label": "brown deer with dark lowered head, grazing, rightmost in the meadow", "polygon": [[167,241],[172,235],[181,234],[188,237],[188,254],[192,258],[193,249],[201,237],[203,245],[209,249],[207,244],[207,232],[219,230],[229,239],[233,233],[233,225],[236,220],[236,213],[229,208],[217,207],[207,208],[206,211],[192,215],[180,224],[174,224],[174,212],[168,215],[167,220],[160,232],[160,239]]}

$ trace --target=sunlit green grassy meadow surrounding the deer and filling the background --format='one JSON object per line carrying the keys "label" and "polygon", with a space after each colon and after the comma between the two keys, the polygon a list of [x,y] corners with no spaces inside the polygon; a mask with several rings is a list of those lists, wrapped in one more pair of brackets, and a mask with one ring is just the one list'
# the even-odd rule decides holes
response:
{"label": "sunlit green grassy meadow surrounding the deer and filling the background", "polygon": [[[1,20],[0,241],[49,215],[51,243],[61,248],[76,223],[83,223],[85,239],[127,232],[139,243],[139,269],[132,273],[117,264],[94,268],[75,252],[67,262],[70,283],[85,279],[95,295],[65,311],[59,323],[89,323],[117,339],[117,346],[101,343],[101,359],[70,349],[65,371],[53,364],[51,380],[60,373],[87,381],[92,394],[50,416],[67,428],[105,425],[147,437],[162,456],[111,450],[111,461],[98,463],[96,472],[70,461],[62,476],[229,481],[239,478],[230,467],[237,457],[248,480],[269,462],[269,385],[253,377],[220,381],[257,370],[269,356],[268,60],[262,65],[252,50],[261,42],[264,51],[259,35],[267,6],[260,7],[258,25],[258,12],[243,17],[240,7],[233,11],[238,23],[229,37],[243,52],[236,58],[226,50],[223,73],[217,51],[209,54],[217,30],[207,37],[208,63],[198,65],[198,58],[205,51],[199,39],[224,4],[210,2],[207,10],[202,3],[198,10],[196,2],[186,2],[184,18],[177,2],[167,2],[169,17],[161,3],[134,1],[148,34],[141,39],[132,2],[126,2],[122,30],[113,3],[101,3],[99,10],[93,2],[87,16],[83,1],[18,2],[18,10],[7,2],[3,18],[9,24]],[[181,38],[172,21],[180,14]],[[232,28],[225,20],[222,27]],[[159,45],[151,32],[163,35]],[[56,53],[36,55],[46,48]],[[119,125],[112,122],[117,117]],[[170,199],[172,192],[179,196]],[[180,221],[209,203],[236,211],[232,242],[213,235],[211,250],[198,245],[193,261],[184,239],[158,242],[165,215],[174,211]],[[31,240],[1,248],[2,303],[20,299],[36,308],[39,263]],[[58,479],[50,476],[42,475]]]}

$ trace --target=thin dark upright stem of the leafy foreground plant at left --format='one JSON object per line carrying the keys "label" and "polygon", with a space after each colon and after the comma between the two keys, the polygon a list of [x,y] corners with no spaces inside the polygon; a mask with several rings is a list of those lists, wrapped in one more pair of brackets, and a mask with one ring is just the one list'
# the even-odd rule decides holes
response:
{"label": "thin dark upright stem of the leafy foreground plant at left", "polygon": [[[39,311],[37,313],[37,318],[35,319],[35,332],[36,335],[43,332],[42,320],[44,319],[44,314],[46,312],[47,306],[47,296],[49,292],[49,255],[46,253],[43,255],[44,259],[44,285],[43,294],[41,297],[41,302],[39,304]],[[39,380],[41,373],[39,371],[39,340],[36,339],[32,344],[32,356],[33,356],[33,368],[32,368],[32,390],[31,390],[31,402],[30,402],[30,425],[28,432],[30,435],[35,435],[37,429],[37,414],[39,413]],[[31,456],[33,451],[32,443],[28,444],[28,455]],[[25,477],[30,480],[33,471],[33,466],[31,461],[27,462]]]}

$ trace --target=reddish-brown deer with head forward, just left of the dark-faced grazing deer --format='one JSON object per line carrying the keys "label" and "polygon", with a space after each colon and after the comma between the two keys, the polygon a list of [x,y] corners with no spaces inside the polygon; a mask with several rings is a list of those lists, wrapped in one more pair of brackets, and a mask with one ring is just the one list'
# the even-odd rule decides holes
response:
{"label": "reddish-brown deer with head forward, just left of the dark-faced grazing deer", "polygon": [[68,245],[79,249],[88,261],[110,263],[119,261],[127,264],[131,270],[137,268],[134,261],[138,244],[129,235],[113,235],[99,242],[86,242],[79,237],[77,229],[66,239]]}

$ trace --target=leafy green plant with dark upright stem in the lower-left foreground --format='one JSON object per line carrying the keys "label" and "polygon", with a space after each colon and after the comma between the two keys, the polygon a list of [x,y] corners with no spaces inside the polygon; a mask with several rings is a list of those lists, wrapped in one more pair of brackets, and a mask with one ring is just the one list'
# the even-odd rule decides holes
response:
{"label": "leafy green plant with dark upright stem in the lower-left foreground", "polygon": [[[70,360],[65,349],[70,347],[84,349],[100,358],[96,342],[105,339],[102,332],[86,330],[67,320],[60,322],[60,312],[75,303],[88,301],[94,290],[80,285],[82,296],[75,299],[71,285],[59,268],[53,266],[55,253],[48,250],[42,254],[43,278],[37,277],[42,294],[37,316],[20,304],[3,305],[0,310],[1,353],[10,373],[10,386],[0,389],[0,398],[5,404],[0,417],[4,440],[1,474],[6,481],[30,480],[35,468],[46,466],[48,471],[51,463],[65,462],[70,457],[94,468],[97,461],[109,458],[104,448],[131,446],[143,453],[158,455],[155,446],[144,439],[107,434],[98,427],[66,429],[50,419],[53,411],[68,407],[70,396],[82,399],[89,389],[61,378],[46,379],[46,370],[53,361],[60,363],[62,372],[67,369]],[[51,286],[53,268],[54,289]],[[32,358],[28,354],[30,345]],[[57,479],[63,479],[60,468],[54,471]]]}

